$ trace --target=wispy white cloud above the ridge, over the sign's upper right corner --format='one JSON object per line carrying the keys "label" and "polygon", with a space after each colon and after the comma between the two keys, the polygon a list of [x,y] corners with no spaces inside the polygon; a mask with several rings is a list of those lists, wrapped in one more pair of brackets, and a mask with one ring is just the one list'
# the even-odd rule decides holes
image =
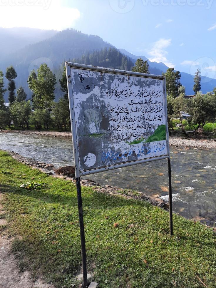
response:
{"label": "wispy white cloud above the ridge, over the sign's upper right corner", "polygon": [[149,58],[149,60],[151,62],[154,62],[154,61],[155,62],[163,62],[168,67],[173,68],[174,64],[167,59],[166,55],[168,54],[168,52],[165,51],[165,48],[167,48],[170,45],[171,45],[171,39],[162,38],[162,39],[156,41],[153,44],[151,51],[148,52],[148,54],[151,56],[151,58]]}

